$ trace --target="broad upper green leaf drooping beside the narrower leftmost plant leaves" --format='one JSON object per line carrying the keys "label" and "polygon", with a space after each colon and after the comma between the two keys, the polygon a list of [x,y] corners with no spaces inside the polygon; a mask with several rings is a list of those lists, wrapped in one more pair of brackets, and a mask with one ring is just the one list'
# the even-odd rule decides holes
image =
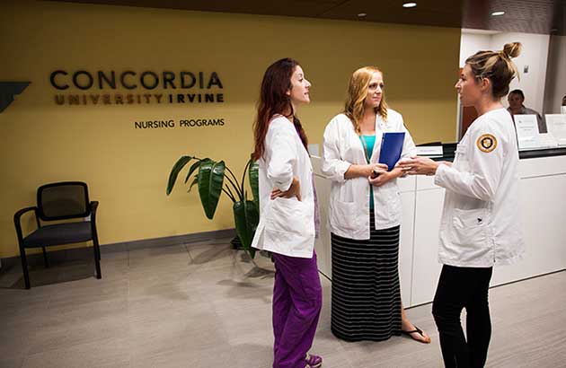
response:
{"label": "broad upper green leaf drooping beside the narrower leftmost plant leaves", "polygon": [[225,171],[224,161],[203,160],[199,165],[197,179],[199,180],[200,203],[209,220],[212,220],[217,210],[218,199],[220,199],[224,185]]}

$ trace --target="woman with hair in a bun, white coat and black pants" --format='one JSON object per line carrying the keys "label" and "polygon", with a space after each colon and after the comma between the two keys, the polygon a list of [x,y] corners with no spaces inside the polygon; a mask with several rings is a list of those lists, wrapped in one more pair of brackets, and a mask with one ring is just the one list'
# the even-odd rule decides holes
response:
{"label": "woman with hair in a bun, white coat and black pants", "polygon": [[[491,338],[488,288],[494,265],[523,253],[519,220],[517,138],[500,100],[517,74],[511,57],[520,43],[479,51],[465,61],[455,84],[464,106],[479,117],[456,148],[453,164],[416,157],[399,166],[410,174],[435,175],[446,188],[438,259],[444,266],[432,313],[447,367],[483,367]],[[460,314],[466,310],[466,336]]]}

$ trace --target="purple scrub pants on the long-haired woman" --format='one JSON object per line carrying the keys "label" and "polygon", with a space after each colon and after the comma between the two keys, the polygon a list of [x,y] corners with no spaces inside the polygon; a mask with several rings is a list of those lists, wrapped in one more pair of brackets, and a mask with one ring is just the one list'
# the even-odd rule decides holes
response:
{"label": "purple scrub pants on the long-haired woman", "polygon": [[273,254],[273,368],[305,368],[323,305],[323,288],[313,258]]}

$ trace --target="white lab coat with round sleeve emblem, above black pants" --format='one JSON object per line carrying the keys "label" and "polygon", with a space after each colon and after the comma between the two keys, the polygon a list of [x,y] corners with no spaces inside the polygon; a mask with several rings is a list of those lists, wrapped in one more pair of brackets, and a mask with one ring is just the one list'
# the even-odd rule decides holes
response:
{"label": "white lab coat with round sleeve emblem, above black pants", "polygon": [[[482,150],[482,136],[495,147]],[[518,150],[505,109],[475,119],[457,145],[452,167],[438,166],[434,182],[446,188],[438,260],[456,267],[492,267],[522,257]]]}

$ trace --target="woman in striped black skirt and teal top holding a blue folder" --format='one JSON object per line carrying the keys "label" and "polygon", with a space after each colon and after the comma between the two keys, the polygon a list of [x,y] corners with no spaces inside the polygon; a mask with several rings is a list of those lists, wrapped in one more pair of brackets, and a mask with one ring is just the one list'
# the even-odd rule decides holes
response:
{"label": "woman in striped black skirt and teal top holding a blue folder", "polygon": [[345,105],[323,137],[322,171],[332,180],[332,333],[347,341],[405,333],[429,343],[401,302],[402,206],[396,181],[402,171],[386,171],[387,165],[377,163],[384,132],[405,133],[404,157],[416,147],[401,114],[387,108],[383,74],[376,67],[354,72]]}

